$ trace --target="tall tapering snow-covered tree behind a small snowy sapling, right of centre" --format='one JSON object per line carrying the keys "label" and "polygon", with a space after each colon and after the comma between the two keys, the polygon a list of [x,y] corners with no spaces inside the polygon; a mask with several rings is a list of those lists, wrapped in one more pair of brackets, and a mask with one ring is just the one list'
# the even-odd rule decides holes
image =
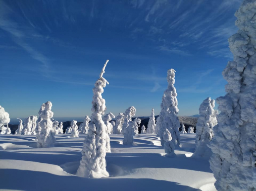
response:
{"label": "tall tapering snow-covered tree behind a small snowy sapling, right of centre", "polygon": [[167,82],[168,87],[164,92],[161,104],[160,118],[160,129],[158,136],[161,139],[161,144],[164,146],[165,140],[163,138],[163,133],[165,129],[168,129],[172,136],[173,144],[180,147],[180,122],[178,119],[178,101],[177,92],[174,87],[175,83],[175,70],[169,69],[167,71]]}

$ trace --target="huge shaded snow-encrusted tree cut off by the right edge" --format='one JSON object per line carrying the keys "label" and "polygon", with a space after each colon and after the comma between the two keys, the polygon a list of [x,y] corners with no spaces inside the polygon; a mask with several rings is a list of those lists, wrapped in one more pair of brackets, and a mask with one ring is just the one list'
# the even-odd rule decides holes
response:
{"label": "huge shaded snow-encrusted tree cut off by the right edge", "polygon": [[256,190],[256,2],[235,13],[238,32],[229,38],[233,61],[222,72],[227,94],[219,97],[218,125],[209,143],[217,190]]}

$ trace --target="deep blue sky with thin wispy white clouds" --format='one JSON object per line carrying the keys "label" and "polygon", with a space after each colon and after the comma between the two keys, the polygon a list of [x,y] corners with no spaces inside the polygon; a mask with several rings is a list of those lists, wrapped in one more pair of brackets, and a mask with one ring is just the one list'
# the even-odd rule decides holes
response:
{"label": "deep blue sky with thin wispy white clouds", "polygon": [[198,114],[225,94],[242,0],[0,0],[0,105],[11,118],[91,114],[92,88],[105,61],[107,112],[160,112],[167,70],[176,70],[179,115]]}

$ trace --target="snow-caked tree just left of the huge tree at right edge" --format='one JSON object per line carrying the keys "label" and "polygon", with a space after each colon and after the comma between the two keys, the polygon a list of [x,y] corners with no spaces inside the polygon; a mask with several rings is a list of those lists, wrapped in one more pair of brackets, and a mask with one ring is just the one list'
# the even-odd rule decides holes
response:
{"label": "snow-caked tree just left of the huge tree at right edge", "polygon": [[216,112],[214,110],[215,100],[207,98],[199,107],[199,118],[196,124],[195,152],[193,157],[209,158],[212,154],[207,144],[212,140],[213,127],[217,125]]}

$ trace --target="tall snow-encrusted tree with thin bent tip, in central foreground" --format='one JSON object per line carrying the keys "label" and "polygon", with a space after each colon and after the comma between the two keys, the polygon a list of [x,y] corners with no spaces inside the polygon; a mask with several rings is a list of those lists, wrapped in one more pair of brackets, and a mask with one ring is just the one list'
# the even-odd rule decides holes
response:
{"label": "tall snow-encrusted tree with thin bent tip, in central foreground", "polygon": [[77,175],[88,178],[108,177],[106,169],[106,125],[102,120],[102,115],[106,111],[105,100],[101,93],[109,82],[103,77],[105,63],[99,74],[99,79],[95,82],[93,88],[92,115],[89,123],[88,136],[84,139],[82,148],[82,159],[77,170]]}

